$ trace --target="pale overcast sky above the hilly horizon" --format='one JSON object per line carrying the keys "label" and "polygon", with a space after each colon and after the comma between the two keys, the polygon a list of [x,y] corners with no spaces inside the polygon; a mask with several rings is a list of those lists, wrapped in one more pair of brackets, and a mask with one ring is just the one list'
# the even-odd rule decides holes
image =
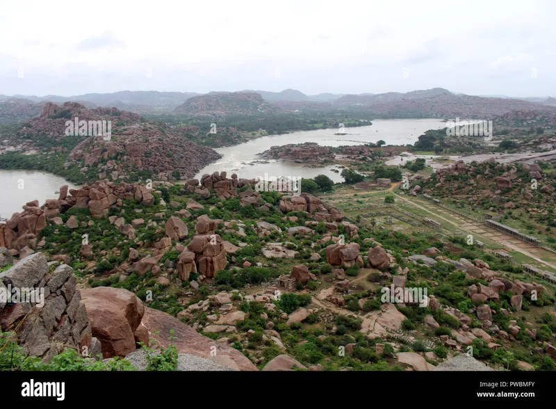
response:
{"label": "pale overcast sky above the hilly horizon", "polygon": [[0,94],[556,96],[556,1],[0,0]]}

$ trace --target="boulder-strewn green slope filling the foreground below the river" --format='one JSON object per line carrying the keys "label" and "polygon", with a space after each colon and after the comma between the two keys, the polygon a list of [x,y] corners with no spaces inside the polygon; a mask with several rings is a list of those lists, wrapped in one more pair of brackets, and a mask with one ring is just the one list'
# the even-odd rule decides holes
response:
{"label": "boulder-strewn green slope filling the foreground below the river", "polygon": [[1,225],[3,254],[72,267],[105,358],[149,342],[244,370],[556,369],[555,285],[459,237],[371,230],[226,173],[65,194]]}

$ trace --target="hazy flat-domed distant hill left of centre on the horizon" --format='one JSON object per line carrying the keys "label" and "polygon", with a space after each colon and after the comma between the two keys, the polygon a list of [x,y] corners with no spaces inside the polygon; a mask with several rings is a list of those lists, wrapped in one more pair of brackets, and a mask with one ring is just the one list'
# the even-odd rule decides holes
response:
{"label": "hazy flat-domed distant hill left of centre on the horizon", "polygon": [[185,115],[263,115],[279,113],[260,94],[251,92],[210,93],[192,97],[174,109]]}

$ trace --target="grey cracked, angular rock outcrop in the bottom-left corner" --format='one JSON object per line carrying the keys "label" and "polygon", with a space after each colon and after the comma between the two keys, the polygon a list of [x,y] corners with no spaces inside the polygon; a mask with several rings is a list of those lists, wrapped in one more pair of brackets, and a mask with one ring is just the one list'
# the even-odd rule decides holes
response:
{"label": "grey cracked, angular rock outcrop in the bottom-left corner", "polygon": [[0,273],[0,294],[15,296],[15,289],[19,296],[28,289],[29,296],[0,303],[0,329],[13,331],[19,326],[17,339],[26,354],[48,362],[66,347],[79,353],[90,347],[88,314],[70,266],[50,268],[42,252],[25,257]]}

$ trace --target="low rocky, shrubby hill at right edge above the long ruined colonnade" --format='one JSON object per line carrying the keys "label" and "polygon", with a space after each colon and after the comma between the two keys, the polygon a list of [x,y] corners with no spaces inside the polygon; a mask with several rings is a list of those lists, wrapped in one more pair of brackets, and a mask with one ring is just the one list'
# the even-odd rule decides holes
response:
{"label": "low rocky, shrubby hill at right edge above the long ruined colonnade", "polygon": [[501,223],[537,237],[545,246],[556,249],[555,166],[539,163],[464,163],[436,169],[431,177],[412,182],[411,194],[429,195],[446,204],[486,213]]}

